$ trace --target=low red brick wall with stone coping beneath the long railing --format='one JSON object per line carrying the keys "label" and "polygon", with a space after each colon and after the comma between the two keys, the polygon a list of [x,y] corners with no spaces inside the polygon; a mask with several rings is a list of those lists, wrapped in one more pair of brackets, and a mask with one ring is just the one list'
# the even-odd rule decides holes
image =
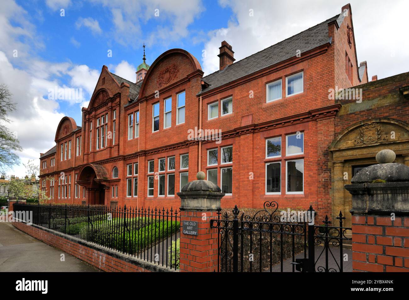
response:
{"label": "low red brick wall with stone coping beneath the long railing", "polygon": [[106,272],[178,272],[35,224],[13,222],[13,226]]}

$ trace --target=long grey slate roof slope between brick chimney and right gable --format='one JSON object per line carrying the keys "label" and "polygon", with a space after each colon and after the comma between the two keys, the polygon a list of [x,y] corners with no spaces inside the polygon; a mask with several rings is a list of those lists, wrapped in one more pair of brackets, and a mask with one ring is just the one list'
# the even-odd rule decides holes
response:
{"label": "long grey slate roof slope between brick chimney and right gable", "polygon": [[[343,14],[341,13],[341,15]],[[342,20],[343,18],[340,15],[336,15],[309,29],[301,31],[295,36],[254,53],[251,56],[247,56],[221,71],[219,70],[203,77],[202,80],[209,84],[209,86],[202,89],[199,94],[248,76],[283,60],[287,60],[288,58],[292,58],[297,54],[297,50],[303,53],[330,42],[328,38],[328,23],[337,21],[338,24],[341,24]]]}

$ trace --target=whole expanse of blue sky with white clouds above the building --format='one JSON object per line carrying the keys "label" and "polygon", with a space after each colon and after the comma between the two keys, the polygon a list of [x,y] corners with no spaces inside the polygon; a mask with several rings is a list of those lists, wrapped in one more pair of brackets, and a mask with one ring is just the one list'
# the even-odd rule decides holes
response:
{"label": "whole expanse of blue sky with white clouds above the building", "polygon": [[[409,71],[409,41],[402,38],[407,36],[408,2],[350,3],[358,62],[367,61],[369,78]],[[148,64],[168,49],[183,48],[198,58],[206,75],[218,69],[223,40],[240,60],[341,13],[344,4],[345,0],[6,0],[0,10],[0,83],[9,86],[18,104],[9,127],[24,149],[21,160],[38,160],[40,152],[54,146],[63,116],[81,124],[81,108],[88,106],[104,64],[135,82],[143,42]],[[54,87],[81,89],[82,97],[49,99]],[[9,171],[24,173],[22,166]]]}

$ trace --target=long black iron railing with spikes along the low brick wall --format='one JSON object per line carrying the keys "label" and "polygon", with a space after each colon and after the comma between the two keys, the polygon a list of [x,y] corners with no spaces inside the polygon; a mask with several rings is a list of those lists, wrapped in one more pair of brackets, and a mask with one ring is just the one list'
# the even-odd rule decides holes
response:
{"label": "long black iron railing with spikes along the low brick wall", "polygon": [[16,203],[13,210],[22,221],[179,269],[176,209]]}

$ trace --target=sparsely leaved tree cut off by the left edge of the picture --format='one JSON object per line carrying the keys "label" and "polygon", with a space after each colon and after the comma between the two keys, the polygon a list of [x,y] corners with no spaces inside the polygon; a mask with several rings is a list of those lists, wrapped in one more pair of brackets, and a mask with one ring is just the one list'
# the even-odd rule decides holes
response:
{"label": "sparsely leaved tree cut off by the left edge of the picture", "polygon": [[5,124],[10,123],[7,113],[16,110],[16,103],[11,101],[11,93],[5,84],[0,84],[0,171],[5,171],[20,163],[15,151],[22,151],[20,142]]}

